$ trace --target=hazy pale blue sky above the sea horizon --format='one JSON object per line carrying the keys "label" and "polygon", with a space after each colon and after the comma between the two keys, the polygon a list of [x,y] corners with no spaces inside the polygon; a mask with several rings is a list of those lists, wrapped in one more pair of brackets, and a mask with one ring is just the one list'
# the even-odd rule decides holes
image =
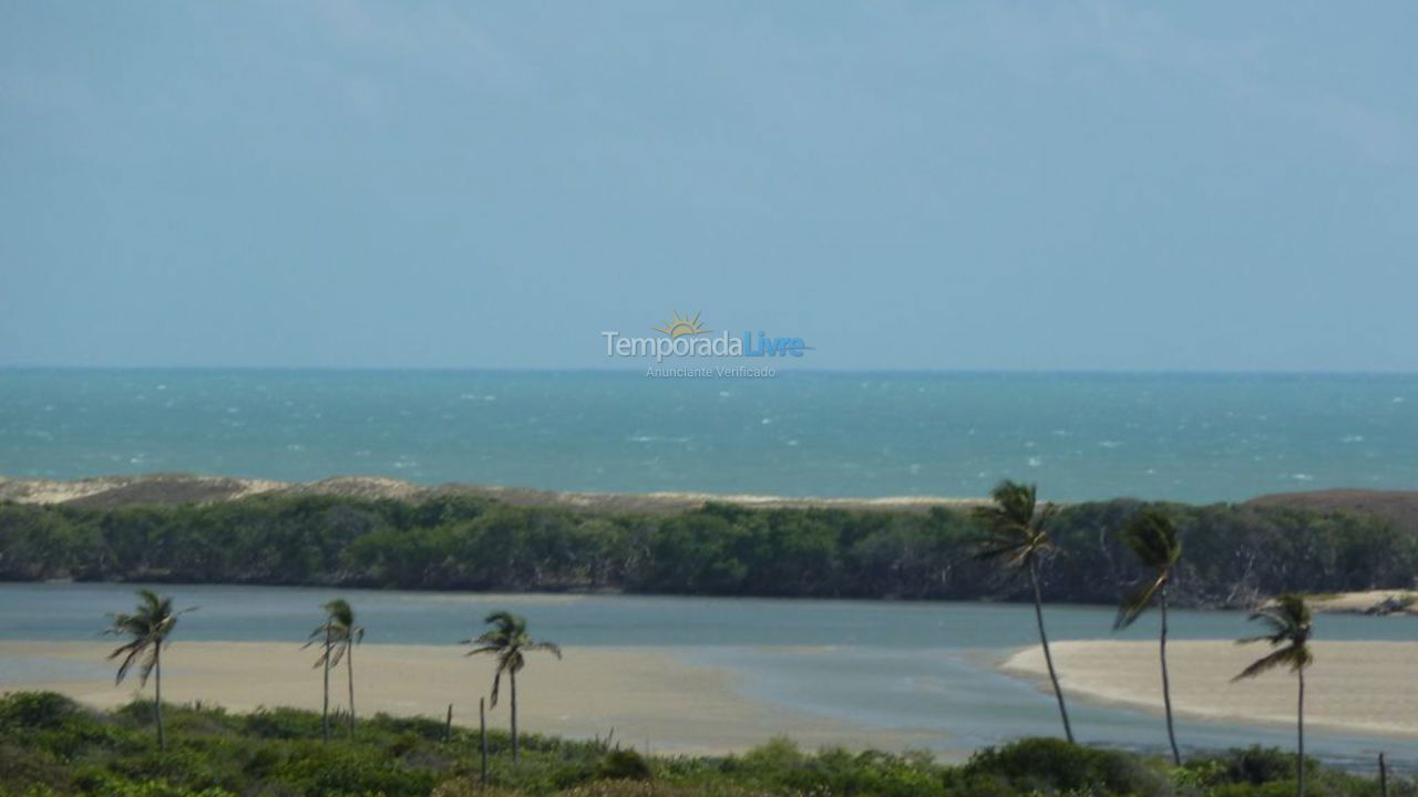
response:
{"label": "hazy pale blue sky above the sea horizon", "polygon": [[0,363],[1418,369],[1418,4],[0,4]]}

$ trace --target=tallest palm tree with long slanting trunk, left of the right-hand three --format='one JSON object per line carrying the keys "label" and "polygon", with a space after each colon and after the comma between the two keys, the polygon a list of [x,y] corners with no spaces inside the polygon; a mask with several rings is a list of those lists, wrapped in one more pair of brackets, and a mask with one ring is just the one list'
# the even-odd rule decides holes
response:
{"label": "tallest palm tree with long slanting trunk, left of the right-hand three", "polygon": [[974,518],[986,533],[977,539],[977,559],[1001,562],[1011,573],[1028,573],[1034,587],[1034,618],[1039,625],[1039,642],[1044,645],[1044,662],[1049,668],[1054,696],[1059,702],[1059,716],[1064,718],[1064,736],[1073,742],[1073,728],[1068,722],[1068,706],[1064,705],[1064,691],[1054,669],[1054,655],[1049,652],[1049,637],[1044,631],[1044,596],[1039,593],[1039,559],[1054,547],[1049,540],[1049,522],[1058,508],[1045,503],[1038,508],[1037,485],[1024,485],[1005,479],[990,494],[993,506],[977,506]]}

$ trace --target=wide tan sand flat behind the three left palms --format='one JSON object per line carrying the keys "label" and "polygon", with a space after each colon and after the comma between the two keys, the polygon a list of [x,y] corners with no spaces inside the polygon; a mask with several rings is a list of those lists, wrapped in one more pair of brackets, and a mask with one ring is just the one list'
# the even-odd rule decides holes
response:
{"label": "wide tan sand flat behind the three left palms", "polygon": [[[0,691],[51,689],[111,708],[136,693],[136,681],[113,685],[105,642],[0,641]],[[234,712],[261,706],[320,708],[315,655],[279,642],[174,642],[163,655],[163,699],[218,703]],[[478,698],[492,684],[485,657],[465,658],[454,645],[363,645],[354,659],[356,709],[362,715],[421,715],[476,725]],[[686,664],[666,648],[569,647],[564,659],[530,657],[518,678],[523,730],[577,739],[605,736],[659,753],[726,753],[787,735],[804,749],[922,747],[926,735],[862,728],[760,703],[735,691],[725,671]],[[145,692],[150,695],[149,691]],[[506,689],[506,685],[503,685]],[[506,699],[506,693],[503,693]],[[332,679],[332,703],[346,705],[343,669]],[[506,705],[489,713],[506,728]]]}

